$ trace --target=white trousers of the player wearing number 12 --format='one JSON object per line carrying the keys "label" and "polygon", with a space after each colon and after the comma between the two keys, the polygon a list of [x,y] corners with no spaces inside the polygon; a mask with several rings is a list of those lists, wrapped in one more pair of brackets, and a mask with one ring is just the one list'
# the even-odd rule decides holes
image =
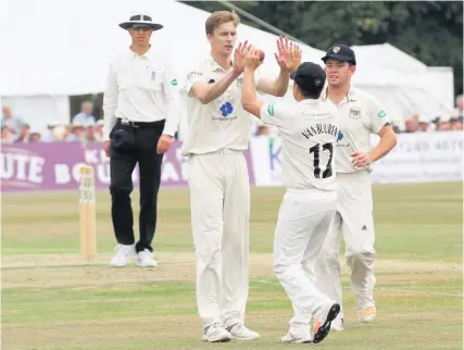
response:
{"label": "white trousers of the player wearing number 12", "polygon": [[288,189],[274,239],[274,273],[290,299],[290,332],[304,336],[329,298],[314,285],[314,264],[336,210],[336,191]]}

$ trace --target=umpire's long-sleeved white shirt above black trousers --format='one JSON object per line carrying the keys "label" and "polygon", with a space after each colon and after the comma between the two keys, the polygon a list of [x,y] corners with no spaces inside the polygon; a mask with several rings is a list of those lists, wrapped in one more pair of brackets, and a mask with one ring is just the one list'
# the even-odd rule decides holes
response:
{"label": "umpire's long-sleeved white shirt above black trousers", "polygon": [[116,118],[131,122],[166,120],[163,134],[174,136],[179,123],[179,91],[173,71],[152,49],[145,54],[127,49],[111,65],[103,96],[103,139]]}

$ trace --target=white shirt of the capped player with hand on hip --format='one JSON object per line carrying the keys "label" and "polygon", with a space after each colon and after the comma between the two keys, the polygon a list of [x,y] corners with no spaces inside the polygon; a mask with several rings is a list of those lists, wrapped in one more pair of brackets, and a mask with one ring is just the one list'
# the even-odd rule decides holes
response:
{"label": "white shirt of the capped player with hand on hip", "polygon": [[[326,100],[327,90],[322,95]],[[329,102],[329,100],[327,100]],[[373,96],[351,87],[348,96],[338,105],[340,133],[337,142],[335,168],[337,173],[372,171],[372,166],[354,167],[350,154],[354,151],[371,151],[371,135],[378,134],[390,118]]]}

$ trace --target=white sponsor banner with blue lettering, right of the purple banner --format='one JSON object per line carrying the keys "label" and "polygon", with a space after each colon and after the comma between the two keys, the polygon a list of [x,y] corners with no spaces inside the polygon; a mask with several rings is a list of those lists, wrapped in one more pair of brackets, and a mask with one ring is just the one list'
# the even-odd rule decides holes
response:
{"label": "white sponsor banner with blue lettering, right of the purple banner", "polygon": [[[379,138],[373,136],[373,147]],[[280,138],[251,140],[256,186],[281,186]],[[373,164],[374,183],[462,180],[463,133],[398,134],[397,147]]]}

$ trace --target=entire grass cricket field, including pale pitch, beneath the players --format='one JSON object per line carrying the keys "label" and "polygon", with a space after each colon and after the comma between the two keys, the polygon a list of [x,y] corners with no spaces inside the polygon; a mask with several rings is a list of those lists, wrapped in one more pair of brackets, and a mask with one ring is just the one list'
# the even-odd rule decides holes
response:
{"label": "entire grass cricket field, including pale pitch, beneath the players", "polygon": [[[262,339],[227,349],[298,347],[279,343],[291,307],[272,270],[283,193],[252,189],[248,323]],[[378,317],[356,321],[344,268],[346,329],[318,348],[463,348],[462,193],[462,183],[375,186]],[[2,349],[216,347],[200,340],[188,191],[161,191],[156,270],[109,267],[109,193],[97,201],[99,255],[85,264],[76,192],[2,196]],[[137,202],[135,192],[136,215]]]}

